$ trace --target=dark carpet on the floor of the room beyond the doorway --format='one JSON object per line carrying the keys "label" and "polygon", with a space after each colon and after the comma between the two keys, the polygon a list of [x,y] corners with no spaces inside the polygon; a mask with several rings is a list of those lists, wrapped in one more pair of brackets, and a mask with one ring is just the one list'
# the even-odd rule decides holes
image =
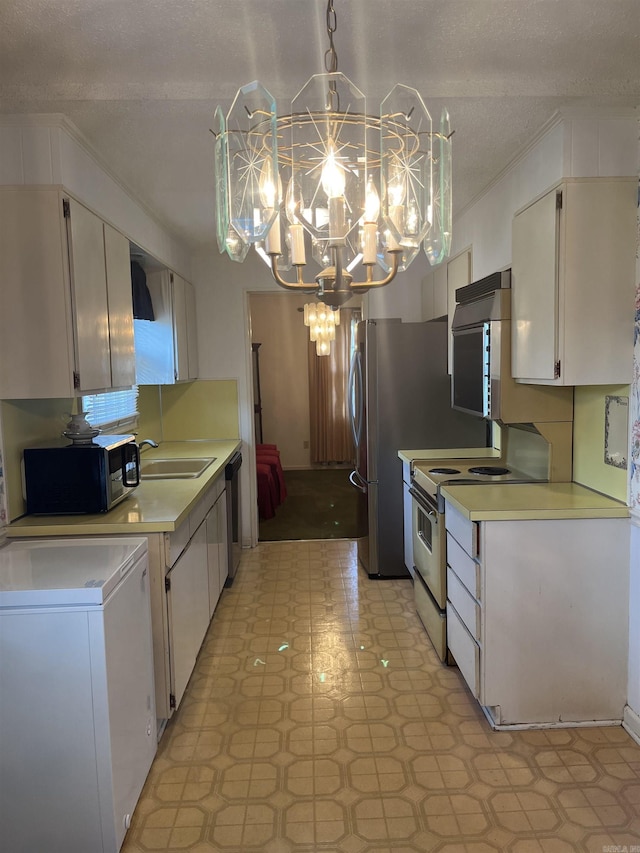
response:
{"label": "dark carpet on the floor of the room beyond the doorway", "polygon": [[285,471],[287,497],[275,518],[260,521],[259,540],[355,539],[359,492],[350,473],[347,468]]}

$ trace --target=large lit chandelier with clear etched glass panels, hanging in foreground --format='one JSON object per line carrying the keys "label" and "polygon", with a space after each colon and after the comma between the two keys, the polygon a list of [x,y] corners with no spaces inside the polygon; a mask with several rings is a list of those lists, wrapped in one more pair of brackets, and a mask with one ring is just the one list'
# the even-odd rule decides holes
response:
{"label": "large lit chandelier with clear etched glass panels, hanging in foreground", "polygon": [[379,115],[368,113],[338,71],[333,0],[326,15],[325,73],[310,78],[290,113],[278,115],[257,81],[238,90],[226,115],[216,108],[216,231],[231,260],[254,246],[281,287],[337,308],[391,282],[421,246],[432,265],[449,254],[452,132],[446,109],[434,130],[420,94],[402,84]]}

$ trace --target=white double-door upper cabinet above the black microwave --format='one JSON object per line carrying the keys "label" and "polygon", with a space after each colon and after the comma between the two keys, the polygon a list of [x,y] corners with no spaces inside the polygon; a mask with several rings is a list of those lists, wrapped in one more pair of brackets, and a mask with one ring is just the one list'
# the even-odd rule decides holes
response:
{"label": "white double-door upper cabinet above the black microwave", "polygon": [[1,193],[0,396],[70,397],[130,385],[126,238],[59,187]]}

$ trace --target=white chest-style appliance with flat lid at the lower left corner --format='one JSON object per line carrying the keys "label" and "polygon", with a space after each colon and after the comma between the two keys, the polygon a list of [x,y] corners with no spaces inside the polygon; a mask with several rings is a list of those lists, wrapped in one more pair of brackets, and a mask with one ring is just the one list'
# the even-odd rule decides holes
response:
{"label": "white chest-style appliance with flat lid at the lower left corner", "polygon": [[0,846],[117,853],[156,752],[147,542],[0,548]]}

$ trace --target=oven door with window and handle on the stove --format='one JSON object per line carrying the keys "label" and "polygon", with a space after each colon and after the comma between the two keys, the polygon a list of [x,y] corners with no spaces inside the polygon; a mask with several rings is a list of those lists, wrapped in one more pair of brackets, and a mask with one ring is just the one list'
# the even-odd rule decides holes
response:
{"label": "oven door with window and handle on the stove", "polygon": [[413,562],[429,593],[441,610],[447,606],[447,561],[444,515],[435,503],[409,489],[412,497]]}

